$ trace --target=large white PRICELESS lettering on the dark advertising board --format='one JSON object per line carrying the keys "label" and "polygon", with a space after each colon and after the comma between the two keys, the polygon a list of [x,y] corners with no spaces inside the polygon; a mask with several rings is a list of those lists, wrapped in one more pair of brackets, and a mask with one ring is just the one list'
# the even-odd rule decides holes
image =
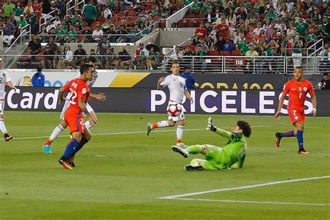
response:
{"label": "large white PRICELESS lettering on the dark advertising board", "polygon": [[[210,91],[196,90],[190,91],[194,103],[184,97],[183,109],[189,113],[251,113],[251,114],[274,114],[277,111],[278,100],[282,93],[279,91]],[[308,98],[311,96],[308,94]],[[168,103],[168,93],[164,91],[152,90],[150,93],[150,111],[159,112]],[[284,101],[281,113],[287,114],[286,105],[288,99]],[[306,100],[305,113],[311,113],[313,105],[310,100]]]}

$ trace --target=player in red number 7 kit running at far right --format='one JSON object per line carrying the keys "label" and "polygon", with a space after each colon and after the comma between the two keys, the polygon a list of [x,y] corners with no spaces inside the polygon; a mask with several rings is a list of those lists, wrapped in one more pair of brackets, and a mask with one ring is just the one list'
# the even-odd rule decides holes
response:
{"label": "player in red number 7 kit running at far right", "polygon": [[289,102],[288,102],[288,115],[294,127],[293,130],[287,132],[276,132],[276,146],[279,147],[281,143],[281,139],[283,137],[291,137],[297,136],[298,153],[301,155],[309,155],[310,152],[307,152],[304,149],[304,102],[306,99],[307,93],[311,95],[311,102],[313,104],[313,118],[316,116],[316,97],[313,91],[313,86],[310,81],[304,79],[304,72],[301,67],[294,68],[294,79],[288,81],[283,88],[283,93],[278,101],[278,110],[275,113],[274,118],[279,119],[281,108],[283,106],[283,102],[285,100],[285,96],[289,94]]}

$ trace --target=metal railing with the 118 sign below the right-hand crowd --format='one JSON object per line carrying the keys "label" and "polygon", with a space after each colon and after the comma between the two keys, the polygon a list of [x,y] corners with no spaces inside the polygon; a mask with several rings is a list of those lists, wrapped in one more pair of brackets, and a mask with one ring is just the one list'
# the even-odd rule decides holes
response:
{"label": "metal railing with the 118 sign below the right-hand crowd", "polygon": [[[295,59],[295,60],[294,60]],[[163,71],[170,72],[171,56],[164,56]],[[304,68],[305,74],[330,72],[330,65],[321,56],[180,56],[181,67],[189,65],[191,72],[208,73],[251,73],[292,74],[294,62]]]}

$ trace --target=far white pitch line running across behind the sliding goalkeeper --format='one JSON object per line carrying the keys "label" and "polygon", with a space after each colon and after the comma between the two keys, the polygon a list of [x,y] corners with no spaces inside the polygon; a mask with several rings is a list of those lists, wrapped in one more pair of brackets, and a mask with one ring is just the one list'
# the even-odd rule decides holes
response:
{"label": "far white pitch line running across behind the sliding goalkeeper", "polygon": [[[274,126],[252,126],[252,127],[274,127]],[[233,127],[223,127],[223,129],[231,129]],[[206,130],[205,128],[194,128],[194,129],[184,129],[184,131],[201,131]],[[171,130],[158,130],[158,131],[152,131],[155,133],[158,132],[175,132],[174,129]],[[103,134],[93,134],[92,136],[107,136],[107,135],[118,135],[118,134],[146,134],[146,131],[143,132],[113,132],[113,133],[103,133]],[[68,137],[70,135],[59,135],[58,137]],[[13,140],[24,140],[24,139],[47,139],[49,136],[26,136],[26,137],[14,137]],[[3,139],[0,139],[3,140]]]}

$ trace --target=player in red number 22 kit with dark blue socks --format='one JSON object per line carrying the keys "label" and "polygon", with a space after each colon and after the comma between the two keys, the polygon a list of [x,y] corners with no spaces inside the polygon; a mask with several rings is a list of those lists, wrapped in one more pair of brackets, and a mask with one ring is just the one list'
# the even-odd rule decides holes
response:
{"label": "player in red number 22 kit with dark blue socks", "polygon": [[72,79],[59,90],[59,102],[63,102],[63,93],[65,91],[70,93],[70,96],[67,97],[70,105],[65,111],[64,120],[70,127],[72,139],[68,143],[63,156],[58,159],[58,163],[67,169],[72,169],[72,165],[70,164],[74,164],[74,155],[91,139],[91,133],[88,132],[84,124],[83,113],[87,116],[91,125],[96,123],[95,116],[89,113],[86,107],[90,92],[86,81],[93,79],[93,70],[93,65],[81,65],[80,77]]}

